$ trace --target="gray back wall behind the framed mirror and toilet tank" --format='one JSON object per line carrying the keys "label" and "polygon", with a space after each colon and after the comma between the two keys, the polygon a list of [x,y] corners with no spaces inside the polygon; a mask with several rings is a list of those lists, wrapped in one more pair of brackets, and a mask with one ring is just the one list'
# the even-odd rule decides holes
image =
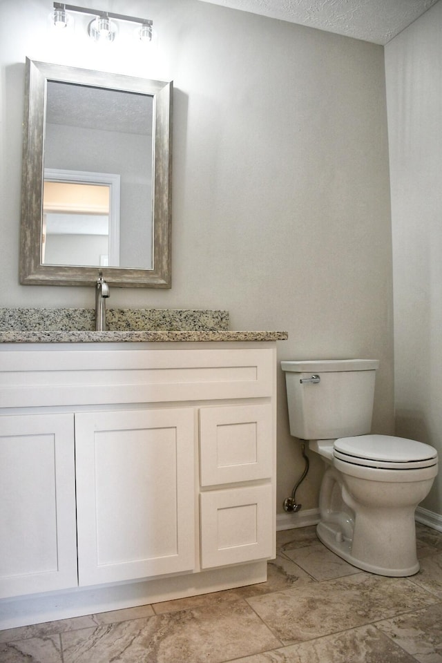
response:
{"label": "gray back wall behind the framed mirror and toilet tank", "polygon": [[[46,0],[0,7],[0,305],[93,306],[92,288],[18,283],[25,57],[173,79],[173,287],[112,306],[229,309],[287,329],[279,357],[378,358],[374,431],[393,431],[392,258],[383,48],[202,3],[100,0],[155,21],[155,56],[48,34]],[[20,23],[21,31],[15,29]],[[278,370],[278,510],[302,470]],[[322,468],[297,497],[318,503]]]}

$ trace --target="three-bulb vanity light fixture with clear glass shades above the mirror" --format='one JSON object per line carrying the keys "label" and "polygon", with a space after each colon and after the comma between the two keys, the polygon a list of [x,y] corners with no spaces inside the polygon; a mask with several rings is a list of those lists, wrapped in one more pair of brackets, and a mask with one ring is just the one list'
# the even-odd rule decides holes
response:
{"label": "three-bulb vanity light fixture with clear glass shades above the mirror", "polygon": [[69,12],[78,14],[87,14],[95,17],[88,25],[88,35],[91,39],[98,42],[114,41],[117,35],[116,21],[128,21],[137,23],[135,30],[136,38],[144,43],[149,43],[153,38],[153,21],[151,19],[139,19],[134,16],[125,16],[123,14],[113,14],[113,12],[104,12],[101,10],[77,7],[75,5],[66,5],[65,3],[55,2],[54,10],[50,15],[50,21],[55,28],[66,28],[72,22]]}

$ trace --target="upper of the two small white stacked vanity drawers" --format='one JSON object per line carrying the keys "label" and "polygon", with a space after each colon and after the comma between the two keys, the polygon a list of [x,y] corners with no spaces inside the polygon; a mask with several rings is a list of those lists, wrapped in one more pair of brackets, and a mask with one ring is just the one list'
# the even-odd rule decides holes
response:
{"label": "upper of the two small white stacked vanity drawers", "polygon": [[270,478],[272,450],[269,403],[201,408],[202,486]]}

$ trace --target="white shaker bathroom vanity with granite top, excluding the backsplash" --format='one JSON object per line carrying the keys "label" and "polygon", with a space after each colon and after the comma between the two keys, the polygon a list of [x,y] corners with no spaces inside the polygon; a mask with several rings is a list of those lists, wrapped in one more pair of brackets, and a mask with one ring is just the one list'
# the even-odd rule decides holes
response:
{"label": "white shaker bathroom vanity with granite top, excluding the backsplash", "polygon": [[10,334],[1,628],[267,579],[285,332]]}

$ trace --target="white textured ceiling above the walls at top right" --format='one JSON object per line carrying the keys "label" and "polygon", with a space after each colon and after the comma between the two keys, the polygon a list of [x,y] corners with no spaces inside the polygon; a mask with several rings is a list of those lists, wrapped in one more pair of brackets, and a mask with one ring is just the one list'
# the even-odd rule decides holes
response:
{"label": "white textured ceiling above the walls at top right", "polygon": [[387,44],[439,0],[201,0]]}

